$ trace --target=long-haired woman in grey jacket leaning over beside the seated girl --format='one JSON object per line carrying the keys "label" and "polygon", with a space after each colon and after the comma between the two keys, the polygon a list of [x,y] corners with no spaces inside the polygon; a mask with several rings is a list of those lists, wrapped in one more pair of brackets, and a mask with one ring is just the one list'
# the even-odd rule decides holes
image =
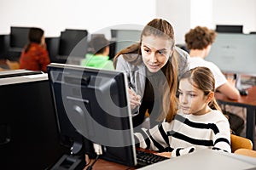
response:
{"label": "long-haired woman in grey jacket leaning over beside the seated girl", "polygon": [[116,54],[113,60],[116,70],[125,71],[128,77],[134,127],[148,121],[147,116],[150,124],[144,123],[145,127],[172,121],[178,78],[189,70],[188,57],[175,46],[171,24],[162,19],[148,22],[140,42]]}

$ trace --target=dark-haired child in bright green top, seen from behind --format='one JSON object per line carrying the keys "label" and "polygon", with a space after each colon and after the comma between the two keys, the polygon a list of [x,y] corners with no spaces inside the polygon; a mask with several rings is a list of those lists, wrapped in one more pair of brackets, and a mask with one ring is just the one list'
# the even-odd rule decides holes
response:
{"label": "dark-haired child in bright green top, seen from behind", "polygon": [[100,69],[114,70],[113,61],[109,60],[109,42],[105,37],[93,37],[90,41],[92,52],[86,54],[81,65]]}

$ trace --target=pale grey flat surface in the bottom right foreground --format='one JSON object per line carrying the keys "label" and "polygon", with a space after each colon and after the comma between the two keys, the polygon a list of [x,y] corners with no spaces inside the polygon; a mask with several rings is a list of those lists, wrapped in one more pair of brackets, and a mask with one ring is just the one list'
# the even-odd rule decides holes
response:
{"label": "pale grey flat surface in the bottom right foreground", "polygon": [[239,156],[231,153],[225,153],[217,150],[198,150],[196,152],[177,156],[170,160],[161,161],[153,165],[140,168],[146,169],[207,169],[207,170],[218,170],[218,169],[255,169],[256,159],[248,156]]}

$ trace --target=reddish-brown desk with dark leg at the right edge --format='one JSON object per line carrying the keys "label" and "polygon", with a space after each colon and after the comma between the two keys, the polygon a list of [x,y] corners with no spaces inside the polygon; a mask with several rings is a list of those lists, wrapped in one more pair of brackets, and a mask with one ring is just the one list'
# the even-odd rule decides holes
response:
{"label": "reddish-brown desk with dark leg at the right edge", "polygon": [[215,98],[218,104],[223,105],[236,105],[247,108],[247,129],[246,137],[251,139],[254,146],[254,136],[255,136],[255,115],[256,115],[256,86],[248,88],[248,95],[241,96],[240,99],[232,100],[228,99],[224,94],[216,93]]}

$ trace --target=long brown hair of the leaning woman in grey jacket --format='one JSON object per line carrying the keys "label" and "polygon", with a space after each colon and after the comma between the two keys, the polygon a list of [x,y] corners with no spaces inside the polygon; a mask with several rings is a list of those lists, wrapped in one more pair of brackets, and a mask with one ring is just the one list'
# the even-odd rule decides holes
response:
{"label": "long brown hair of the leaning woman in grey jacket", "polygon": [[[116,66],[117,59],[119,55],[123,55],[124,59],[127,62],[130,62],[132,65],[139,65],[143,62],[142,53],[141,53],[141,43],[143,37],[154,36],[154,37],[164,37],[168,38],[172,41],[172,56],[169,58],[169,62],[166,64],[166,70],[164,75],[166,76],[166,80],[168,82],[168,90],[164,91],[164,95],[162,98],[163,104],[163,112],[157,119],[158,121],[162,121],[166,118],[167,122],[171,122],[173,117],[177,112],[177,52],[174,49],[175,41],[174,41],[174,31],[172,25],[162,19],[154,19],[148,22],[148,24],[143,28],[140,42],[137,44],[133,44],[128,48],[125,48],[119,51],[118,54],[115,55],[113,59],[113,65]],[[134,55],[125,55],[125,54],[137,54],[136,57]],[[172,101],[172,102],[171,102]],[[167,105],[166,105],[167,104]]]}

